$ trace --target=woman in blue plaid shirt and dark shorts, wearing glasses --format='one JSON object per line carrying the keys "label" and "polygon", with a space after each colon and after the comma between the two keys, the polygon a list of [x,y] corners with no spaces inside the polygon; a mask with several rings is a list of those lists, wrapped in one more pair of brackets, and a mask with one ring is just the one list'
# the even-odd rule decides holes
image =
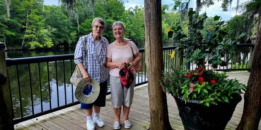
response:
{"label": "woman in blue plaid shirt and dark shorts, wearing glasses", "polygon": [[[100,84],[100,93],[96,101],[91,104],[81,103],[81,109],[85,109],[86,111],[86,125],[88,130],[94,130],[94,124],[97,124],[99,127],[104,126],[99,113],[100,108],[105,106],[109,72],[105,66],[109,42],[105,37],[101,36],[105,30],[105,22],[101,18],[94,18],[91,27],[92,32],[90,34],[79,38],[74,52],[74,62],[82,72],[84,80],[89,82],[91,77]],[[87,63],[84,62],[85,44],[87,44]],[[85,68],[87,69],[85,70]],[[92,118],[93,108],[94,117]]]}

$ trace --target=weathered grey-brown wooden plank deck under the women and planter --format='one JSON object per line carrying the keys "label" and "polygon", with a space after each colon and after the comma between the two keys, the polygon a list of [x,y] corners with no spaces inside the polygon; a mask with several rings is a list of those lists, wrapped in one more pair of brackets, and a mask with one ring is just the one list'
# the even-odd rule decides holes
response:
{"label": "weathered grey-brown wooden plank deck under the women and planter", "polygon": [[[233,77],[234,76],[234,77]],[[232,74],[229,78],[242,78],[240,82],[247,83],[249,73],[244,73],[243,77],[239,73]],[[248,77],[247,77],[248,76]],[[243,97],[243,95],[242,95]],[[169,120],[174,130],[183,130],[183,124],[179,117],[179,112],[174,98],[167,94],[167,103],[169,111]],[[226,130],[235,130],[243,113],[244,100],[239,102],[235,112],[226,126]],[[111,107],[110,95],[107,95],[106,107],[101,108],[100,117],[104,121],[105,126],[100,128],[95,125],[96,130],[113,129],[114,113]],[[129,115],[132,123],[131,130],[147,130],[150,124],[150,109],[147,84],[135,87],[133,104]],[[122,119],[121,119],[122,120]],[[15,130],[86,130],[85,111],[80,109],[80,105],[62,109],[41,117],[21,122],[14,125]],[[121,129],[124,130],[122,122]],[[259,123],[261,130],[261,123]]]}

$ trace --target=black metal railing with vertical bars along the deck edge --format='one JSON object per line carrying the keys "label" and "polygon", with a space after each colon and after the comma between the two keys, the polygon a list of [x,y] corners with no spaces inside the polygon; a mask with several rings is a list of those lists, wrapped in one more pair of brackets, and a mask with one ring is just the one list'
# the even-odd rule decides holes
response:
{"label": "black metal railing with vertical bars along the deck edge", "polygon": [[[249,59],[253,45],[238,47],[238,52],[227,55],[225,61],[228,66],[219,67],[217,71],[250,70]],[[178,56],[173,59],[169,56],[175,48],[163,48],[165,71],[168,66],[180,62]],[[143,71],[136,74],[135,86],[148,82],[145,51],[139,49],[139,52],[143,57],[140,62]],[[239,55],[242,55],[241,58]],[[14,124],[79,104],[74,97],[76,87],[70,83],[76,66],[73,59],[74,54],[6,59]],[[107,94],[110,94],[110,90]]]}

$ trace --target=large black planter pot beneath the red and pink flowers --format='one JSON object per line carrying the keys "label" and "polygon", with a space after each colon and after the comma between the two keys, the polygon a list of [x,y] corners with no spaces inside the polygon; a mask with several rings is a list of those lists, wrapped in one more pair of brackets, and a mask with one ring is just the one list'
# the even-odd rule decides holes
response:
{"label": "large black planter pot beneath the red and pink flowers", "polygon": [[182,100],[173,96],[179,109],[179,116],[185,130],[224,130],[231,119],[236,105],[242,100],[237,94],[230,103],[205,106],[199,100]]}

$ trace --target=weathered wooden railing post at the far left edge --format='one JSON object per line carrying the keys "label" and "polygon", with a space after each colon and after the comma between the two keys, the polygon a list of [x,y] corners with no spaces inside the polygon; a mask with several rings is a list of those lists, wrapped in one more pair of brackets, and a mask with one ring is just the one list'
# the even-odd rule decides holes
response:
{"label": "weathered wooden railing post at the far left edge", "polygon": [[0,43],[0,130],[14,130],[4,50],[5,45]]}

